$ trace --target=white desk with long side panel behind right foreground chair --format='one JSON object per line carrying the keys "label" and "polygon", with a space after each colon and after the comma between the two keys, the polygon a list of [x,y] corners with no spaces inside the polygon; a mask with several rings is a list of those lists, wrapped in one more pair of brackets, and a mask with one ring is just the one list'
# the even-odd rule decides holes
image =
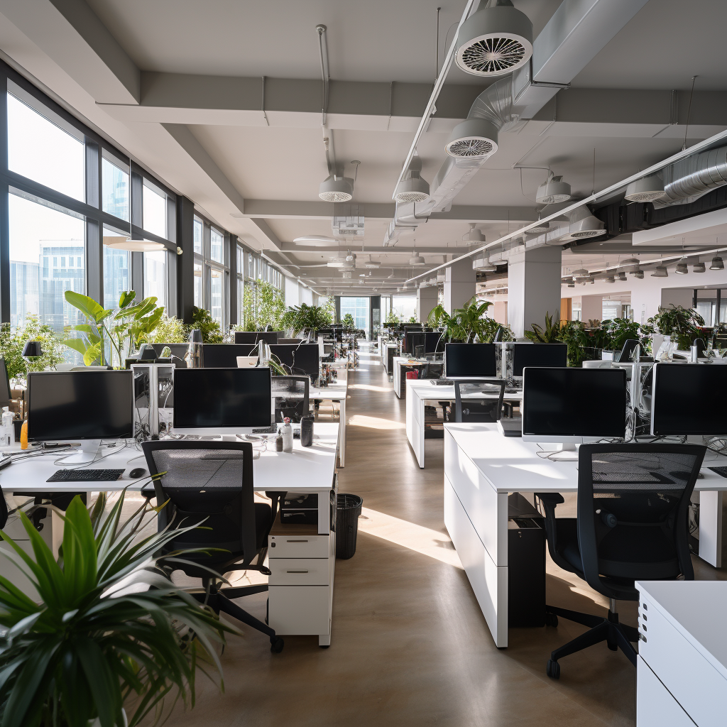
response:
{"label": "white desk with long side panel behind right foreground chair", "polygon": [[[507,646],[507,494],[578,491],[577,462],[551,462],[538,449],[494,424],[444,425],[444,524],[499,647]],[[718,464],[727,458],[705,462]],[[727,479],[702,473],[699,555],[718,568]]]}

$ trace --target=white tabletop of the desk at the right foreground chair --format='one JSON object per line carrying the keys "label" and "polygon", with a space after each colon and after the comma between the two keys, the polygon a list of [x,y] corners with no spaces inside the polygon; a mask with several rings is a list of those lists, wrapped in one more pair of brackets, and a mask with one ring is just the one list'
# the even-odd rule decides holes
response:
{"label": "white tabletop of the desk at the right foreground chair", "polygon": [[[505,437],[499,433],[496,424],[445,424],[444,430],[497,492],[578,490],[578,463],[552,462],[538,457],[540,447],[537,442]],[[696,481],[694,489],[727,490],[727,479],[707,469],[727,465],[727,457],[718,457],[710,452],[707,452],[707,457],[702,467],[704,476]]]}

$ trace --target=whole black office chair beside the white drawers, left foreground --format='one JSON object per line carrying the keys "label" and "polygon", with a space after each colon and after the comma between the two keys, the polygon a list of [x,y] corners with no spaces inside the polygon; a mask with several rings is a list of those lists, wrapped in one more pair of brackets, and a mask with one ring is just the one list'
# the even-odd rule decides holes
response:
{"label": "whole black office chair beside the white drawers, left foreground", "polygon": [[[254,570],[270,575],[262,565],[268,550],[268,534],[275,521],[273,508],[254,502],[252,444],[221,441],[148,441],[142,450],[154,481],[157,505],[167,502],[158,515],[158,529],[184,528],[166,546],[166,552],[209,548],[209,552],[170,557],[164,565],[201,578],[205,593],[194,598],[219,614],[233,616],[270,638],[270,651],[278,654],[284,641],[267,624],[258,621],[233,600],[268,590],[268,584],[222,588],[219,580],[229,571]],[[214,550],[213,550],[214,549]],[[252,561],[255,560],[255,563]],[[210,573],[210,569],[214,574]]]}

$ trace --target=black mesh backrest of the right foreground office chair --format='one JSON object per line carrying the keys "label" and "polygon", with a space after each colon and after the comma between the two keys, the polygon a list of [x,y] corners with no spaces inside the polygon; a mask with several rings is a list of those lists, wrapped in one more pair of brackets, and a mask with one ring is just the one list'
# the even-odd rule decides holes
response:
{"label": "black mesh backrest of the right foreground office chair", "polygon": [[581,446],[578,544],[592,587],[604,593],[601,577],[694,578],[688,507],[704,451],[691,444]]}

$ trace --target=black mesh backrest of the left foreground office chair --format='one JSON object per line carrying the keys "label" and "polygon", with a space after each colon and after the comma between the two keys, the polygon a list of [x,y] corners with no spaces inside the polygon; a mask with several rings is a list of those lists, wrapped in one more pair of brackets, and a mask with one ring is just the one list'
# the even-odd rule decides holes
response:
{"label": "black mesh backrest of the left foreground office chair", "polygon": [[[256,554],[252,444],[164,440],[143,442],[142,449],[150,473],[164,473],[154,482],[157,505],[169,501],[159,513],[159,529],[201,524],[174,539],[172,550],[214,547],[243,553],[246,564],[252,561]],[[212,560],[229,560],[230,553],[212,554]]]}

